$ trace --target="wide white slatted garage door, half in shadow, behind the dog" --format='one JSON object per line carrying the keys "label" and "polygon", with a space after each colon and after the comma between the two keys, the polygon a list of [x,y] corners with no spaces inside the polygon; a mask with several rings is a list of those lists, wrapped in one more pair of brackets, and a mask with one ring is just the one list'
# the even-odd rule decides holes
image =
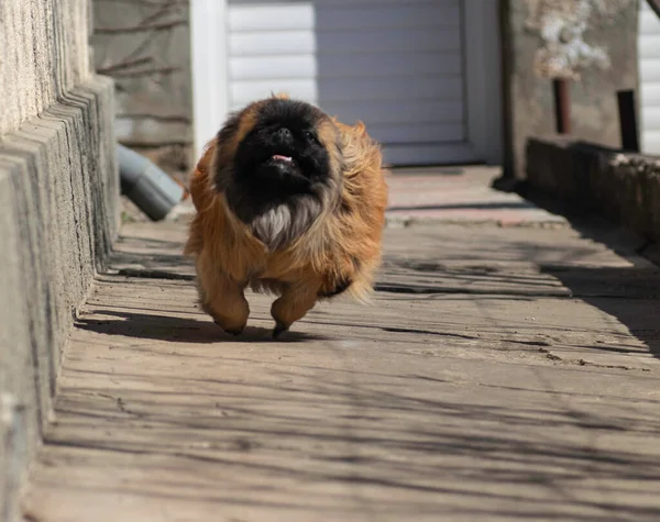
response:
{"label": "wide white slatted garage door, half in shadow, behind the dog", "polygon": [[230,0],[230,108],[286,91],[362,120],[397,165],[473,160],[460,0]]}

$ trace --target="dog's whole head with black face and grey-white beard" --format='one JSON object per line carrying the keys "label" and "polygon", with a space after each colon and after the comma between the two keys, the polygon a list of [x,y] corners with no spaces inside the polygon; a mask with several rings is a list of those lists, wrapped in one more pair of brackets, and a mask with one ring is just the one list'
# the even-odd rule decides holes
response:
{"label": "dog's whole head with black face and grey-white beard", "polygon": [[340,198],[339,131],[309,103],[272,98],[237,114],[219,140],[239,133],[231,168],[217,173],[217,186],[258,240],[286,247]]}

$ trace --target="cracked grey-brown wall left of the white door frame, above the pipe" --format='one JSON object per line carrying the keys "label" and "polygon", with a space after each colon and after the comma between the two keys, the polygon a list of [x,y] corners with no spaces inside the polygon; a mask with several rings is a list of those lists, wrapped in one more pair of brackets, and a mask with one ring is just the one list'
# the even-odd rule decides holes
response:
{"label": "cracked grey-brown wall left of the white door frame, above the pipe", "polygon": [[187,0],[94,0],[95,66],[116,86],[120,143],[184,181],[193,160]]}

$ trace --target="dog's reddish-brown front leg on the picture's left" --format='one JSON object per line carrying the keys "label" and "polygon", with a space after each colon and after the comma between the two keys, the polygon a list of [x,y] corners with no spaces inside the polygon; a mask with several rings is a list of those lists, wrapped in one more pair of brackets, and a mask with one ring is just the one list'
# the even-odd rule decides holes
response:
{"label": "dog's reddish-brown front leg on the picture's left", "polygon": [[218,271],[202,257],[197,263],[199,301],[222,330],[239,335],[245,329],[250,307],[243,295],[243,286]]}

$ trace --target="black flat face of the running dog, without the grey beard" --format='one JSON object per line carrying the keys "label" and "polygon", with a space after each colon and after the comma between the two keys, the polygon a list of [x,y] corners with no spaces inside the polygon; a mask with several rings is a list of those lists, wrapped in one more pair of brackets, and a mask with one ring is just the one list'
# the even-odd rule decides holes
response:
{"label": "black flat face of the running dog, without the grey beard", "polygon": [[314,193],[314,186],[330,176],[328,151],[317,131],[324,119],[310,104],[270,100],[239,144],[234,184],[255,197],[271,199]]}

